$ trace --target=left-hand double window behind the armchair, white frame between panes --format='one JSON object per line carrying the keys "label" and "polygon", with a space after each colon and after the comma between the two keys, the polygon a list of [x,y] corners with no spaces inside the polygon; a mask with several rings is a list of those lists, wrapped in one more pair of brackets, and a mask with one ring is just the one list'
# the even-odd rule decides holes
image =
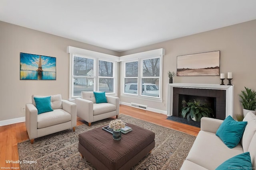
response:
{"label": "left-hand double window behind the armchair, white frame between panes", "polygon": [[96,57],[72,55],[71,98],[82,91],[116,93],[116,62]]}

